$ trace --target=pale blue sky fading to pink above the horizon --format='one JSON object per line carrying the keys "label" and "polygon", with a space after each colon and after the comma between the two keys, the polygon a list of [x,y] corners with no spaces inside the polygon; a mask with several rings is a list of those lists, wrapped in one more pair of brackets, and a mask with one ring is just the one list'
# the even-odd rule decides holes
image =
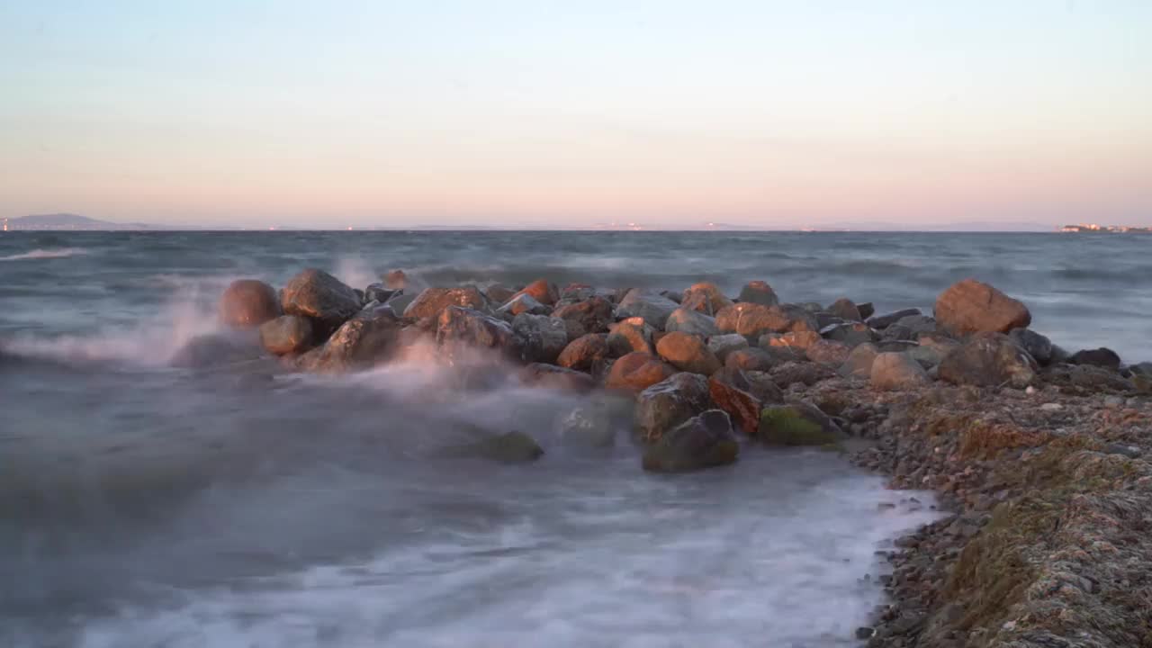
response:
{"label": "pale blue sky fading to pink above the horizon", "polygon": [[61,211],[1152,225],[1152,2],[0,2],[0,217]]}

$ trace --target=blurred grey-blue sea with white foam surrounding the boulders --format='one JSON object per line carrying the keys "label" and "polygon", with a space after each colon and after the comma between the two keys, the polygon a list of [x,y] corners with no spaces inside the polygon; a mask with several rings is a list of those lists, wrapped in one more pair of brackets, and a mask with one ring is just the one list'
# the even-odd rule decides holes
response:
{"label": "blurred grey-blue sea with white foam surrounding the boulders", "polygon": [[[856,646],[874,556],[924,493],[820,452],[643,474],[561,443],[577,397],[426,359],[344,377],[184,369],[235,278],[393,268],[930,311],[976,277],[1069,351],[1152,360],[1152,236],[778,233],[0,234],[0,646]],[[1142,355],[1143,354],[1143,355]],[[532,434],[507,466],[438,452]],[[916,504],[911,498],[917,498]],[[895,507],[881,504],[896,504]]]}

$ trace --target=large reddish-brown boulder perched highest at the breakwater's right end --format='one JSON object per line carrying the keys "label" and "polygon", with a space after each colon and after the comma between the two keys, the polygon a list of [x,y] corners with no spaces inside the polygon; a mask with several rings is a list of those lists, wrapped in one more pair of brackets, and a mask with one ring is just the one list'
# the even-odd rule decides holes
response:
{"label": "large reddish-brown boulder perched highest at the breakwater's right end", "polygon": [[994,287],[964,279],[940,293],[935,303],[940,326],[957,334],[996,332],[1026,329],[1032,314],[1023,303]]}

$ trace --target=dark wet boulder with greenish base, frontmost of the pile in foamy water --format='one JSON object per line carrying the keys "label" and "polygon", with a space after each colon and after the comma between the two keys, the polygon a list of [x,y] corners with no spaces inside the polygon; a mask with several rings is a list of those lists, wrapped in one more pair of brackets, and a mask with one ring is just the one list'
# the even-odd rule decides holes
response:
{"label": "dark wet boulder with greenish base, frontmost of the pile in foamy water", "polygon": [[664,435],[644,452],[643,466],[653,473],[685,473],[733,464],[738,454],[728,415],[710,409]]}

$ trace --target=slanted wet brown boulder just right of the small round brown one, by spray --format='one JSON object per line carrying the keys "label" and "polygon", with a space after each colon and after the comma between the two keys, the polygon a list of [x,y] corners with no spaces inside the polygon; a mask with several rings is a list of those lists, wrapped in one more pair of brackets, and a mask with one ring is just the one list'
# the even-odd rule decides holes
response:
{"label": "slanted wet brown boulder just right of the small round brown one, by spray", "polygon": [[297,359],[305,371],[341,374],[389,360],[399,347],[400,319],[391,308],[363,310],[344,322],[324,346]]}

